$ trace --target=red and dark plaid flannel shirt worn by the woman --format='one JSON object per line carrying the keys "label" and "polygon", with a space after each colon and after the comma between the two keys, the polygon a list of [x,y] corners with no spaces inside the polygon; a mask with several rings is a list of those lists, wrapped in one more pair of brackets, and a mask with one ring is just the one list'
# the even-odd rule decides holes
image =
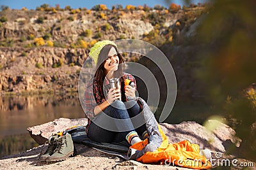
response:
{"label": "red and dark plaid flannel shirt worn by the woman", "polygon": [[[129,79],[134,82],[134,87],[136,89],[136,80],[134,76],[128,73],[124,73],[123,76],[124,80]],[[88,82],[86,90],[84,92],[84,98],[83,98],[83,110],[85,113],[86,118],[88,118],[88,125],[86,126],[86,131],[88,131],[88,127],[91,123],[91,120],[95,119],[95,114],[94,114],[94,108],[99,105],[104,103],[106,99],[108,99],[108,90],[110,89],[110,84],[108,79],[105,79],[104,85],[103,85],[103,92],[104,96],[100,95],[100,88],[97,85],[97,80],[93,81],[93,78]],[[124,89],[122,89],[124,90]],[[106,97],[105,97],[106,96]]]}

